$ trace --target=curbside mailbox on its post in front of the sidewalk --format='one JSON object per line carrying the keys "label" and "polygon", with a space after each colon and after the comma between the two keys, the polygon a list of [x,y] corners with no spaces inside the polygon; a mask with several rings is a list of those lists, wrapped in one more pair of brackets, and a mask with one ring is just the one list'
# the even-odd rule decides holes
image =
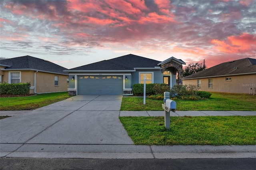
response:
{"label": "curbside mailbox on its post in front of the sidewalk", "polygon": [[162,107],[165,111],[164,114],[164,125],[165,128],[170,129],[170,111],[176,111],[176,102],[170,99],[170,93],[164,92],[164,104]]}

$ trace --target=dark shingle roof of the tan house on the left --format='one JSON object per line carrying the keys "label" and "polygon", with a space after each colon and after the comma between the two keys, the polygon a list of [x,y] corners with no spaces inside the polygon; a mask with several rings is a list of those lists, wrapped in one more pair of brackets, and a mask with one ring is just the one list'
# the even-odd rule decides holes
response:
{"label": "dark shingle roof of the tan house on the left", "polygon": [[10,59],[2,59],[0,60],[0,64],[10,65],[10,67],[5,67],[6,70],[34,69],[34,70],[48,71],[53,73],[68,74],[63,71],[63,70],[67,70],[65,67],[61,67],[60,65],[54,64],[50,61],[39,59],[36,57],[31,57],[29,55],[10,58]]}

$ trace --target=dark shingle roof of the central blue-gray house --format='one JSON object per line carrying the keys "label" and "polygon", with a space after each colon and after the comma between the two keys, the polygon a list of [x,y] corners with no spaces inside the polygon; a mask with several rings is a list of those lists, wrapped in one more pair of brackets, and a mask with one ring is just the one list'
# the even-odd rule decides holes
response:
{"label": "dark shingle roof of the central blue-gray house", "polygon": [[161,61],[156,61],[154,59],[128,54],[113,59],[83,65],[70,70],[133,70],[138,67],[158,67],[157,64],[160,62]]}

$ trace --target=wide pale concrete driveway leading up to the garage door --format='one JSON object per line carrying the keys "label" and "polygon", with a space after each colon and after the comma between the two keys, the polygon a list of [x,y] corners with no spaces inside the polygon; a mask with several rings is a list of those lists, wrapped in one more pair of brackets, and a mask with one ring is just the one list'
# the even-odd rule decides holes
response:
{"label": "wide pale concrete driveway leading up to the garage door", "polygon": [[118,118],[121,102],[122,96],[78,95],[2,119],[0,143],[134,144]]}

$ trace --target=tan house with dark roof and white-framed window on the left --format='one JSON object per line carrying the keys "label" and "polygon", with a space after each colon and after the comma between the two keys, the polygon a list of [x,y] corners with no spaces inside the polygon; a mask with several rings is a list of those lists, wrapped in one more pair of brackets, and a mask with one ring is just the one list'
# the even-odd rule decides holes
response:
{"label": "tan house with dark roof and white-framed window on the left", "polygon": [[0,60],[1,83],[31,83],[30,94],[67,91],[66,68],[44,59],[15,57]]}

